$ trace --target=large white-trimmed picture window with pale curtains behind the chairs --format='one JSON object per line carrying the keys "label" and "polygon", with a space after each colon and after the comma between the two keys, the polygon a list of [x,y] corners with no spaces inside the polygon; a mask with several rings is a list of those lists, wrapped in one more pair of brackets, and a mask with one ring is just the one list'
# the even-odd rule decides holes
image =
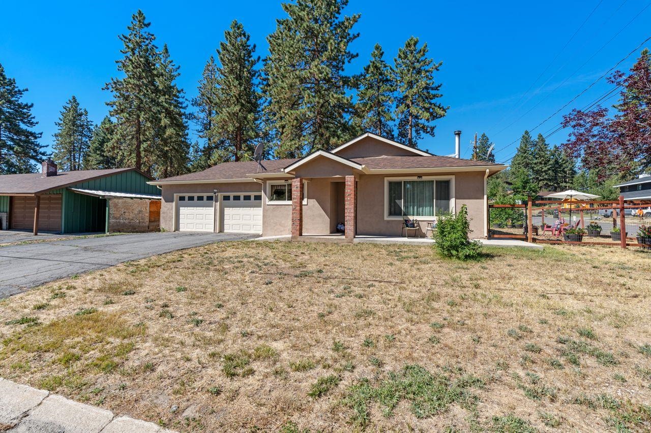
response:
{"label": "large white-trimmed picture window with pale curtains behind the chairs", "polygon": [[434,218],[452,209],[452,179],[395,179],[387,181],[388,218]]}

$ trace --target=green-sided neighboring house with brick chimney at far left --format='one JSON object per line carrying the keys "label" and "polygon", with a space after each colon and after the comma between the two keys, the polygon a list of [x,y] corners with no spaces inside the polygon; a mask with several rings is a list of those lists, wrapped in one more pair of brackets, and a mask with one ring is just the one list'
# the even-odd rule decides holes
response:
{"label": "green-sided neighboring house with brick chimney at far left", "polygon": [[[160,190],[135,168],[0,176],[0,220],[17,230],[88,233],[158,230]],[[35,218],[36,216],[36,218]]]}

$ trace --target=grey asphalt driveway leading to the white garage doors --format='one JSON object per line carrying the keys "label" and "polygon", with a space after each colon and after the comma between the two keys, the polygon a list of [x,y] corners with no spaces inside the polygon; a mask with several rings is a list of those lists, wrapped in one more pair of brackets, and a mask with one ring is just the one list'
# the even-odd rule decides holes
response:
{"label": "grey asphalt driveway leading to the white garage doors", "polygon": [[236,233],[137,233],[0,246],[0,298],[124,261],[221,241],[253,239]]}

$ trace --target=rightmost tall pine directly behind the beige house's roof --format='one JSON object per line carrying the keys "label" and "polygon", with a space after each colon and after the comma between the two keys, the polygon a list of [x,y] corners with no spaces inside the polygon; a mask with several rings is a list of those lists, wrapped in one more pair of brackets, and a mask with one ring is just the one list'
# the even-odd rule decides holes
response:
{"label": "rightmost tall pine directly behind the beige house's roof", "polygon": [[398,49],[395,59],[398,98],[398,140],[408,146],[417,146],[423,134],[434,137],[434,120],[442,118],[449,107],[436,102],[443,96],[441,84],[434,81],[434,72],[443,62],[428,59],[427,44],[418,47],[419,40],[411,36],[404,47]]}

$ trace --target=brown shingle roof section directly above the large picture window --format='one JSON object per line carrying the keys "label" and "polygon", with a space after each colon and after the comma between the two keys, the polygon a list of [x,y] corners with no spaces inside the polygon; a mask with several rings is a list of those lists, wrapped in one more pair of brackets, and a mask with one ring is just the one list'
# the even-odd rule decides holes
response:
{"label": "brown shingle roof section directly above the large picture window", "polygon": [[355,163],[363,164],[370,170],[399,170],[400,168],[460,168],[477,166],[501,166],[474,159],[461,159],[443,156],[382,156],[353,158]]}

